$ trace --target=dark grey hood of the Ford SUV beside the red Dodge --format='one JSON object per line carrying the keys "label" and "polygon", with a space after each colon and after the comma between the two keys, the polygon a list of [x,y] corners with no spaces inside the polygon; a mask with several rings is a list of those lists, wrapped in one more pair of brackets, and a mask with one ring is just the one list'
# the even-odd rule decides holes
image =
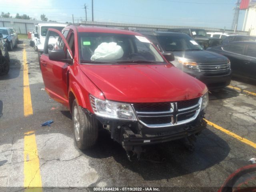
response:
{"label": "dark grey hood of the Ford SUV beside the red Dodge", "polygon": [[223,55],[205,50],[185,52],[175,51],[172,53],[177,59],[186,58],[188,61],[192,62],[222,62],[228,60],[228,58]]}

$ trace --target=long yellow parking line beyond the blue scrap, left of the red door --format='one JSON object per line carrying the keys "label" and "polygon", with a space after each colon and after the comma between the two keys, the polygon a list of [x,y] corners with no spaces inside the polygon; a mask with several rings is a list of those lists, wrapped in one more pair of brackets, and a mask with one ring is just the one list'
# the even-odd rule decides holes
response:
{"label": "long yellow parking line beyond the blue scrap, left of the red door", "polygon": [[26,58],[25,44],[23,44],[23,102],[24,102],[24,116],[33,114],[29,81],[28,81],[28,65]]}

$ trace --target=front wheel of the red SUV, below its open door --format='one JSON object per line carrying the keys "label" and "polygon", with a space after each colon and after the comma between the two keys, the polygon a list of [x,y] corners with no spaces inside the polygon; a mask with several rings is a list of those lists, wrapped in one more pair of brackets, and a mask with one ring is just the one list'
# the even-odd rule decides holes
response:
{"label": "front wheel of the red SUV, below its open door", "polygon": [[80,150],[88,149],[98,138],[98,123],[94,116],[85,113],[75,99],[72,106],[72,119],[76,145]]}

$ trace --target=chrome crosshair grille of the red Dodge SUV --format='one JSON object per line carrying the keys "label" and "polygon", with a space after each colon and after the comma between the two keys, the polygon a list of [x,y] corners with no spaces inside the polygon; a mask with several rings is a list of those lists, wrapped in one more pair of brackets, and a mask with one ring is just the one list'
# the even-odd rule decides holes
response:
{"label": "chrome crosshair grille of the red Dodge SUV", "polygon": [[134,103],[138,120],[146,127],[158,128],[185,124],[196,119],[202,98],[178,102]]}

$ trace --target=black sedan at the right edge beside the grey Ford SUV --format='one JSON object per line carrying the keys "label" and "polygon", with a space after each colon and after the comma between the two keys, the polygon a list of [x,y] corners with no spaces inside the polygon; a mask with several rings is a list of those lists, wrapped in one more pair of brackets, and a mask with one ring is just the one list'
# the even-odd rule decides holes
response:
{"label": "black sedan at the right edge beside the grey Ford SUV", "polygon": [[231,42],[208,50],[226,56],[230,60],[234,76],[256,80],[255,41]]}

